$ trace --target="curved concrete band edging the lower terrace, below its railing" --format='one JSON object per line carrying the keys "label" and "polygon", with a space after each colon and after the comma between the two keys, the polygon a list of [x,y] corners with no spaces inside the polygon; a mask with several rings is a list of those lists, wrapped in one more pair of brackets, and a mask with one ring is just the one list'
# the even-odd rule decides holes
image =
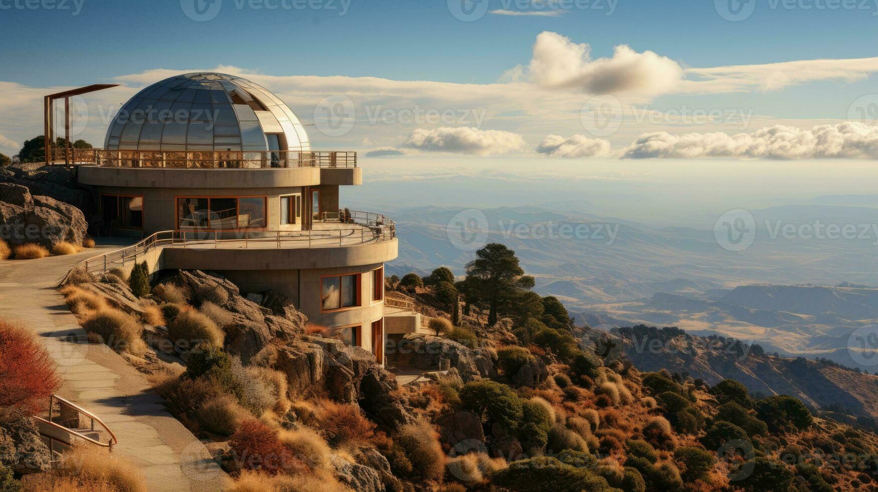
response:
{"label": "curved concrete band edging the lower terrace, below its railing", "polygon": [[162,250],[164,268],[180,270],[299,270],[378,264],[397,257],[396,239],[327,248],[212,249],[175,246]]}

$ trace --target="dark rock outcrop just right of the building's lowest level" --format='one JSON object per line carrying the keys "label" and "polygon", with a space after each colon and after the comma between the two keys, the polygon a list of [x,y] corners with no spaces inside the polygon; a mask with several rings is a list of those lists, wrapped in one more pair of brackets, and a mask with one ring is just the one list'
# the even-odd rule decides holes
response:
{"label": "dark rock outcrop just right of the building's lowest level", "polygon": [[464,382],[497,377],[491,354],[485,349],[473,350],[453,340],[430,335],[415,335],[400,344],[400,351],[408,351],[408,363],[419,369],[438,369],[447,359],[457,369]]}

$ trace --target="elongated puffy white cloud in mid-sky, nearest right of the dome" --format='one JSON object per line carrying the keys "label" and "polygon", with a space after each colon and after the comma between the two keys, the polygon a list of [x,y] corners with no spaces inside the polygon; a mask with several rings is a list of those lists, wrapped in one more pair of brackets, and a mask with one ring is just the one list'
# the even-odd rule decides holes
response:
{"label": "elongated puffy white cloud in mid-sky, nearest right of the dome", "polygon": [[406,147],[475,156],[507,154],[524,147],[522,135],[471,127],[418,128],[408,136]]}

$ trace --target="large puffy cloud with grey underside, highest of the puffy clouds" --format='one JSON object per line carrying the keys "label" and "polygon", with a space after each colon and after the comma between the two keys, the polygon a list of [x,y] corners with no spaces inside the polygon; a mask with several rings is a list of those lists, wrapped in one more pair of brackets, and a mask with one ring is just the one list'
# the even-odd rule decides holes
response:
{"label": "large puffy cloud with grey underside, highest of the puffy clouds", "polygon": [[637,53],[620,45],[611,58],[592,60],[587,43],[576,44],[548,31],[536,36],[529,73],[543,87],[589,94],[662,94],[674,90],[683,78],[680,64],[651,51]]}

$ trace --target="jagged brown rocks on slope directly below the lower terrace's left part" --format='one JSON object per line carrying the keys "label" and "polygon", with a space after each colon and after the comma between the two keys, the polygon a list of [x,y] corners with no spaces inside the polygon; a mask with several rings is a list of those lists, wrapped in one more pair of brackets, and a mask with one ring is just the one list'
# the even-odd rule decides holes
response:
{"label": "jagged brown rocks on slope directly below the lower terrace's left part", "polygon": [[[181,270],[177,272],[176,284],[198,303],[211,300],[232,313],[234,322],[226,329],[226,349],[240,356],[245,364],[273,340],[290,341],[305,332],[306,315],[280,294],[272,297],[275,311],[241,296],[238,286],[216,274]],[[218,294],[218,290],[224,293]]]}

